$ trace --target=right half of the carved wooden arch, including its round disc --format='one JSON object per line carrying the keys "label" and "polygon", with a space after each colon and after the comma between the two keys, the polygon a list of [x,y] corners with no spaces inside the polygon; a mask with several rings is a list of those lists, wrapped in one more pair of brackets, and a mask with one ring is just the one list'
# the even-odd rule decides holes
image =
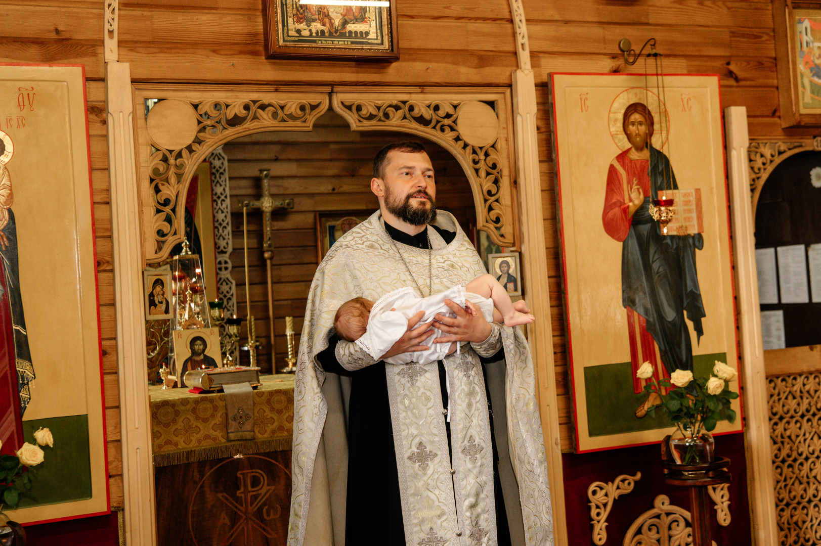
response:
{"label": "right half of the carved wooden arch, including its round disc", "polygon": [[510,93],[498,89],[332,94],[333,110],[351,131],[401,131],[447,149],[470,182],[476,228],[496,244],[518,249],[509,105]]}

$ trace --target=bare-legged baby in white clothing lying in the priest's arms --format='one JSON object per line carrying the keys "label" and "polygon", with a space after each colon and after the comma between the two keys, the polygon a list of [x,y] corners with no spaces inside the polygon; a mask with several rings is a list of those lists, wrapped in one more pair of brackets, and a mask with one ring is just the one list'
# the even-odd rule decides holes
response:
{"label": "bare-legged baby in white clothing lying in the priest's arms", "polygon": [[[484,274],[468,282],[465,287],[452,287],[426,298],[416,296],[411,287],[392,291],[376,303],[366,298],[354,298],[339,306],[333,326],[339,337],[356,342],[375,360],[379,360],[406,333],[408,319],[420,311],[424,311],[420,323],[430,322],[436,314],[456,316],[445,305],[445,300],[454,301],[468,313],[476,314],[474,307],[467,304],[470,301],[479,308],[488,322],[516,326],[534,321],[525,301],[513,303],[504,287],[492,275]],[[433,334],[422,342],[422,345],[430,347],[429,350],[402,353],[385,361],[389,364],[427,364],[442,360],[451,351],[451,344],[434,344],[433,339],[445,334],[435,326],[433,330]]]}

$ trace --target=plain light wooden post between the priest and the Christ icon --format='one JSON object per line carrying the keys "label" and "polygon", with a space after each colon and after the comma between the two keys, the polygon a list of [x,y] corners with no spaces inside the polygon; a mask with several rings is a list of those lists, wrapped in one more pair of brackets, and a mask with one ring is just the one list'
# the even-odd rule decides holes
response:
{"label": "plain light wooden post between the priest and the Christ icon", "polygon": [[530,308],[539,313],[538,319],[528,325],[528,340],[533,351],[533,364],[539,385],[536,397],[542,417],[544,449],[548,457],[548,479],[553,502],[553,540],[557,546],[564,546],[568,544],[567,520],[556,368],[553,363],[548,259],[544,251],[544,214],[536,135],[536,86],[532,70],[513,71],[512,80],[516,186],[521,210],[521,261]]}

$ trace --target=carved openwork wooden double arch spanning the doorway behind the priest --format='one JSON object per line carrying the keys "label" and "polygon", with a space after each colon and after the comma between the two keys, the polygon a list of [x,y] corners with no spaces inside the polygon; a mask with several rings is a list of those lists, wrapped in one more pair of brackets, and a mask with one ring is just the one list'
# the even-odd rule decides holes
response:
{"label": "carved openwork wooden double arch spanning the doorway behind the priest", "polygon": [[191,176],[213,149],[251,133],[310,131],[332,98],[353,131],[406,132],[450,151],[470,181],[477,227],[518,250],[508,90],[279,89],[135,85],[146,263],[162,261],[182,241]]}

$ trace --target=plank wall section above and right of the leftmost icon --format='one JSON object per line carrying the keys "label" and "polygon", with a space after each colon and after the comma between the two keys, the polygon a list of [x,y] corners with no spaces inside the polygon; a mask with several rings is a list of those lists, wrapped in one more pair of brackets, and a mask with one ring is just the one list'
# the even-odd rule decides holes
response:
{"label": "plank wall section above and right of the leftmost icon", "polygon": [[91,185],[97,236],[103,386],[108,434],[111,506],[122,507],[120,402],[112,271],[111,209],[108,198],[103,63],[102,0],[17,0],[0,2],[0,62],[82,63],[85,65],[91,147]]}

